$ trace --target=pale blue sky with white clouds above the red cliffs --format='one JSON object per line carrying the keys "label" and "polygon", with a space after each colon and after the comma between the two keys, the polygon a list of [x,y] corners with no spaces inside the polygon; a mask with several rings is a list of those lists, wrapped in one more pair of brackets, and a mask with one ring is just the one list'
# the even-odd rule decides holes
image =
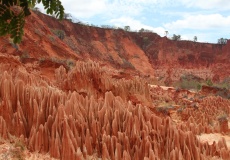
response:
{"label": "pale blue sky with white clouds above the red cliffs", "polygon": [[[61,0],[66,13],[83,23],[130,26],[160,36],[217,43],[230,38],[230,0]],[[39,7],[39,6],[38,6]]]}

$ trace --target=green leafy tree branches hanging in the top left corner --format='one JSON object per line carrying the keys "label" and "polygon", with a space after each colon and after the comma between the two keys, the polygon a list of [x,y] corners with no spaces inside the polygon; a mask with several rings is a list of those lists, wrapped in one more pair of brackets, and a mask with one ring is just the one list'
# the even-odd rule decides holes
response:
{"label": "green leafy tree branches hanging in the top left corner", "polygon": [[15,44],[20,43],[25,17],[31,14],[29,8],[41,2],[47,14],[63,18],[64,7],[60,0],[0,0],[0,36],[10,35]]}

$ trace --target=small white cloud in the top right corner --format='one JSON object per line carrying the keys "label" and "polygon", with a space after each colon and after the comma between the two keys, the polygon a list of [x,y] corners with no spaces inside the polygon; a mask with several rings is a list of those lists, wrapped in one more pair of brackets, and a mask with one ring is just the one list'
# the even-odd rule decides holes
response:
{"label": "small white cloud in the top right corner", "polygon": [[198,7],[201,9],[230,9],[229,0],[179,0],[179,2],[181,2],[187,7]]}

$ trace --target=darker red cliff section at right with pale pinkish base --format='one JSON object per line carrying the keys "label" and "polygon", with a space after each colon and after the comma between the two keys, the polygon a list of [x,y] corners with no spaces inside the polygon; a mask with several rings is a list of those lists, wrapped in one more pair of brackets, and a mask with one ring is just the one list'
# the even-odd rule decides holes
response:
{"label": "darker red cliff section at right with pale pinkish base", "polygon": [[145,51],[156,77],[172,81],[185,74],[214,81],[229,77],[230,41],[226,45],[172,41],[154,33],[133,33],[132,37]]}

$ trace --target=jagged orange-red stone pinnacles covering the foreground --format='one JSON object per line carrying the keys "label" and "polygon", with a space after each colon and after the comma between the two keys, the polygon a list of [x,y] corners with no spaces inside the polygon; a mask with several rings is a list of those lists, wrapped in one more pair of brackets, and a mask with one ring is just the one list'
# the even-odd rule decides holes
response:
{"label": "jagged orange-red stone pinnacles covering the foreground", "polygon": [[[138,87],[134,85],[136,82],[132,82],[134,84],[130,86],[135,88],[127,83],[121,84],[117,87],[124,90],[120,92],[121,96],[119,93],[114,96],[115,88],[113,92],[105,91],[103,97],[97,97],[98,94],[90,92],[95,87],[90,86],[91,83],[88,83],[88,89],[85,88],[86,96],[78,93],[81,87],[70,90],[69,81],[81,84],[84,76],[93,79],[94,74],[104,78],[103,74],[99,74],[96,63],[80,62],[76,66],[73,72],[66,72],[63,67],[56,70],[56,76],[60,76],[57,86],[51,86],[27,72],[20,72],[20,67],[17,72],[5,71],[0,76],[0,128],[4,128],[1,136],[23,136],[31,151],[50,153],[58,159],[87,159],[95,154],[103,159],[230,158],[224,141],[212,145],[198,141],[195,134],[205,126],[205,120],[195,118],[198,114],[186,111],[200,121],[200,124],[197,122],[199,125],[192,126],[196,123],[189,118],[187,126],[177,127],[169,117],[159,117],[149,107],[133,105],[122,98],[127,95],[126,92],[146,93],[144,84]],[[67,84],[65,89],[68,92],[59,88],[65,78],[67,81],[63,83]],[[102,90],[105,84],[100,84]],[[147,99],[148,94],[145,96]],[[223,104],[229,112],[226,107],[229,102],[221,99],[215,102],[218,106]],[[203,103],[213,106],[213,102],[208,100],[201,105]],[[208,108],[206,112],[214,112]]]}

